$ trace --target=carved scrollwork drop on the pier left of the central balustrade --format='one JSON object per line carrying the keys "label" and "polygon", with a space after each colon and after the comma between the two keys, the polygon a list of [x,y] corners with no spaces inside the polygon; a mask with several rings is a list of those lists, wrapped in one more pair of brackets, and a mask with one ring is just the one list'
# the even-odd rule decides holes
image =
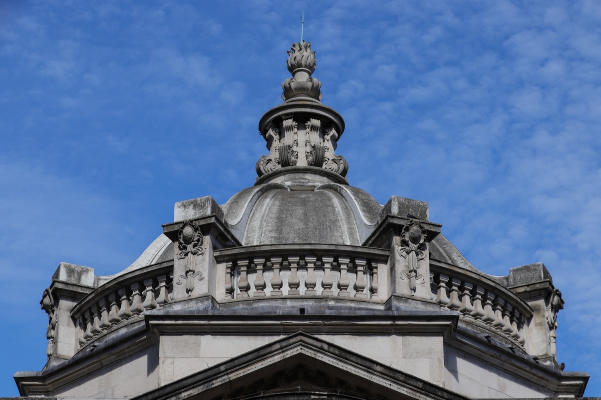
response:
{"label": "carved scrollwork drop on the pier left of the central balustrade", "polygon": [[180,250],[177,253],[177,258],[186,260],[186,275],[180,275],[177,284],[181,285],[183,283],[182,279],[185,279],[188,296],[192,296],[192,291],[194,291],[195,278],[198,278],[199,281],[204,279],[203,273],[196,270],[197,255],[204,254],[202,245],[203,234],[200,231],[200,227],[198,224],[191,224],[186,219],[179,230],[179,240],[177,243],[177,247]]}

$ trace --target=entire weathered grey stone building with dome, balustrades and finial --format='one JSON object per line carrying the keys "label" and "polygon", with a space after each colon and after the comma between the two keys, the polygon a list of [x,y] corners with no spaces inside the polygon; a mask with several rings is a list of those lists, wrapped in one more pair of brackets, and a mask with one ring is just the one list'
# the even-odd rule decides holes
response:
{"label": "entire weathered grey stone building with dome, balustrades and finial", "polygon": [[174,222],[111,276],[61,263],[43,293],[48,362],[22,396],[163,399],[581,397],[558,365],[561,292],[542,263],[491,276],[430,221],[348,184],[344,120],[315,52],[288,52],[257,181]]}

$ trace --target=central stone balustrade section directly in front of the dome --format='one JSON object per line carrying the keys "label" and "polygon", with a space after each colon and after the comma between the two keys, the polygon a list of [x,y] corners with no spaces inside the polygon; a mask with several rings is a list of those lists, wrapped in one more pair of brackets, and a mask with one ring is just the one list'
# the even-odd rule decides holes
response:
{"label": "central stone balustrade section directly in front of the dome", "polygon": [[[275,248],[274,248],[275,247]],[[389,252],[359,246],[251,246],[215,252],[225,300],[264,296],[376,299]]]}

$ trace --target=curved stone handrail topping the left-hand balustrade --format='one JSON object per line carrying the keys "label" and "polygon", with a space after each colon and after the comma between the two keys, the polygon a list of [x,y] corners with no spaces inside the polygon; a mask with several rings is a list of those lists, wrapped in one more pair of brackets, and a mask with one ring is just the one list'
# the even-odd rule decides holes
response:
{"label": "curved stone handrail topping the left-hand balustrade", "polygon": [[73,307],[71,310],[71,316],[78,318],[82,312],[90,308],[97,299],[107,296],[112,291],[115,291],[116,287],[131,284],[135,281],[142,281],[146,278],[150,278],[159,273],[166,273],[167,275],[173,271],[173,260],[163,261],[162,263],[151,264],[140,269],[133,270],[123,275],[117,276],[114,279],[100,285],[90,293],[88,293],[83,299]]}

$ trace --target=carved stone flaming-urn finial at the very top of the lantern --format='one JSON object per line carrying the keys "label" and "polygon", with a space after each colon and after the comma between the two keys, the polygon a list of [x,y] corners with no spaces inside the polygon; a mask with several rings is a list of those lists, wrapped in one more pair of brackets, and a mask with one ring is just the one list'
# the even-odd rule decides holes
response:
{"label": "carved stone flaming-urn finial at the very top of the lantern", "polygon": [[322,100],[322,83],[311,77],[317,63],[315,52],[311,51],[311,43],[305,41],[293,43],[288,50],[288,71],[293,75],[282,83],[284,101],[293,97],[310,97]]}

